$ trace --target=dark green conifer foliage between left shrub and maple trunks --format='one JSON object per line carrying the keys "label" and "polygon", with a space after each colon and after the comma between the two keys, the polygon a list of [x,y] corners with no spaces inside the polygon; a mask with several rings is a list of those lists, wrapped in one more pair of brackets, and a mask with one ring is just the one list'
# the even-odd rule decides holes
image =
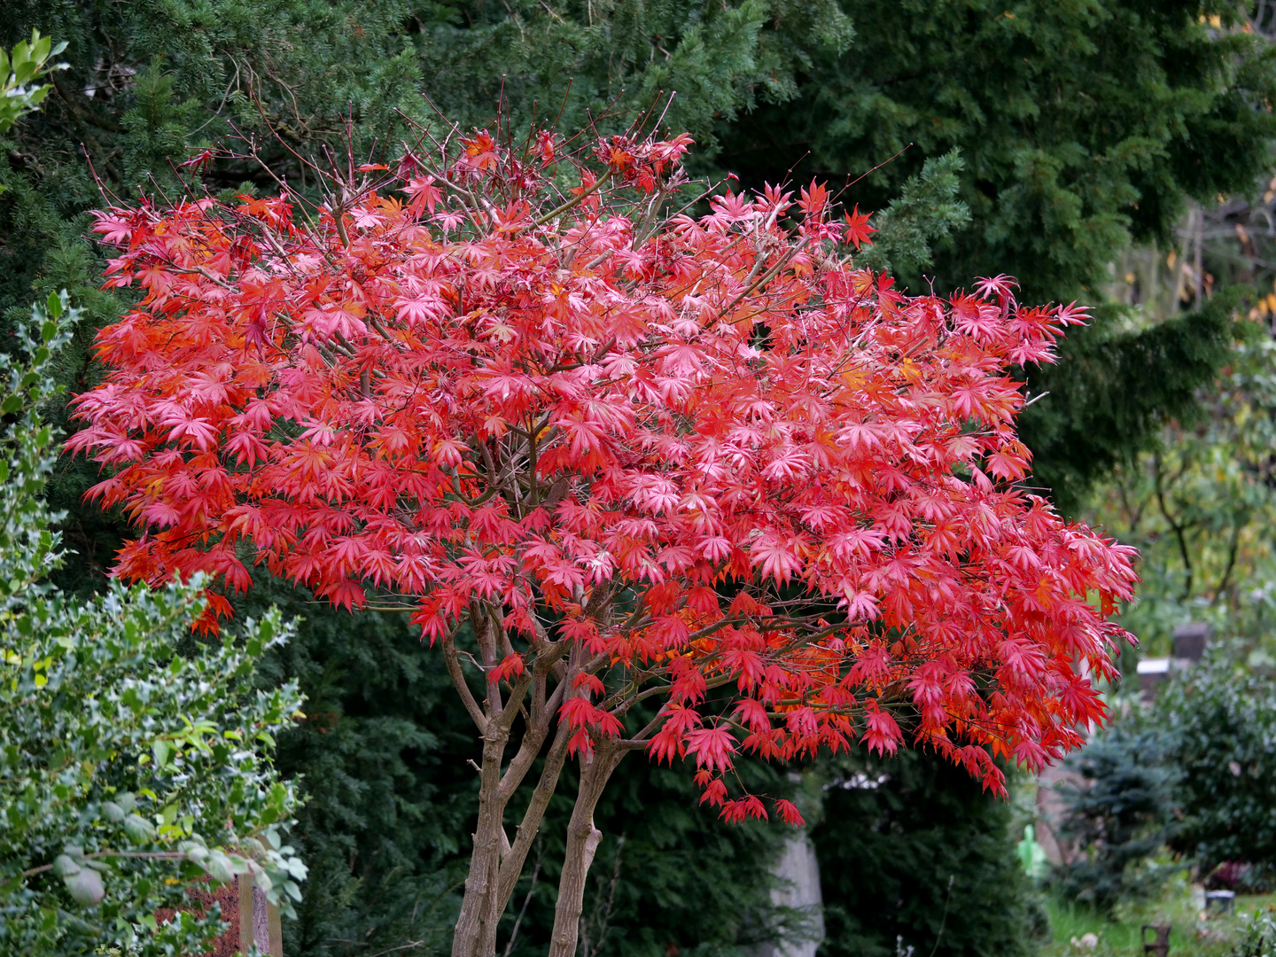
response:
{"label": "dark green conifer foliage between left shrub and maple trunks", "polygon": [[421,942],[445,953],[464,879],[477,776],[468,716],[436,652],[402,614],[334,612],[304,591],[259,582],[244,602],[300,616],[296,642],[259,674],[295,679],[306,720],[277,764],[308,800],[297,843],[313,882],[288,925],[288,954],[375,953]]}

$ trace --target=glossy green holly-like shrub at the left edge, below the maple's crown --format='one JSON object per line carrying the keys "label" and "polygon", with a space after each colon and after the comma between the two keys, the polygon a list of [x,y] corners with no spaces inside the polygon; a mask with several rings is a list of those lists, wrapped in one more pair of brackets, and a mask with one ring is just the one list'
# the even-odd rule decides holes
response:
{"label": "glossy green holly-like shrub at the left edge, below the maple's crown", "polygon": [[253,686],[291,627],[272,611],[204,644],[198,582],[80,601],[42,581],[61,556],[38,410],[74,313],[64,293],[33,319],[29,362],[0,356],[0,954],[202,953],[225,924],[200,878],[251,872],[283,912],[300,900],[296,786],[269,755],[301,697]]}

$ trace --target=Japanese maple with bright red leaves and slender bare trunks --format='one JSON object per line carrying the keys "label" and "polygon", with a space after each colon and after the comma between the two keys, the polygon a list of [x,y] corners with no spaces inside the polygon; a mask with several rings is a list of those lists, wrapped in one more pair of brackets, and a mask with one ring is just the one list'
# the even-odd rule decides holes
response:
{"label": "Japanese maple with bright red leaves and slender bare trunks", "polygon": [[305,216],[285,188],[97,219],[140,300],[68,447],[142,530],[116,573],[242,590],[260,564],[413,607],[482,741],[458,957],[494,953],[569,759],[553,957],[632,750],[693,759],[727,819],[799,822],[736,755],[911,744],[1000,790],[997,758],[1040,767],[1104,715],[1132,551],[1021,487],[1009,376],[1082,310],[1004,277],[900,295],[817,184],[679,212],[688,145],[422,134]]}

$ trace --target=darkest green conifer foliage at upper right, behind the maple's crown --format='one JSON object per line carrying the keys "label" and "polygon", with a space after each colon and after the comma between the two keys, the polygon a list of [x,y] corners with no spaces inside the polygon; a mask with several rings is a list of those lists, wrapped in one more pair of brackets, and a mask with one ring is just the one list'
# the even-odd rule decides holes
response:
{"label": "darkest green conifer foliage at upper right, behind the maple's crown", "polygon": [[[846,0],[842,9],[856,28],[852,51],[818,55],[791,102],[723,124],[720,162],[754,182],[791,167],[799,182],[841,179],[912,143],[850,194],[882,208],[924,162],[960,149],[970,225],[933,267],[905,268],[912,286],[923,273],[946,291],[1004,272],[1025,301],[1101,301],[1109,264],[1131,240],[1166,239],[1188,198],[1248,191],[1270,166],[1276,50],[1240,31],[1234,4]],[[1039,480],[1069,510],[1220,360],[1212,318],[1184,320],[1173,343],[1115,336],[1115,319],[1097,315],[1069,336],[1067,362],[1030,375],[1034,393],[1051,396],[1023,438]]]}

